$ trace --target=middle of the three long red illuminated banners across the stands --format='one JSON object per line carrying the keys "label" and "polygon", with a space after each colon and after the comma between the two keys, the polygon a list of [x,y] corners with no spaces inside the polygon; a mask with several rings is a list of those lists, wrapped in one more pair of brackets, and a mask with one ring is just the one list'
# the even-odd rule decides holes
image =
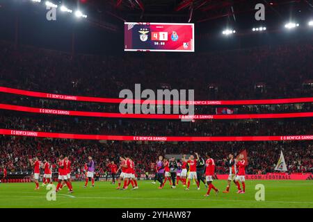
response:
{"label": "middle of the three long red illuminated banners across the stands", "polygon": [[1,104],[2,110],[19,112],[33,112],[40,114],[56,114],[79,117],[105,117],[105,118],[132,118],[132,119],[275,119],[275,118],[300,118],[313,117],[313,112],[274,113],[274,114],[228,114],[228,115],[181,115],[181,114],[121,114],[115,112],[84,112],[72,110],[52,110],[45,108],[31,108],[21,105]]}

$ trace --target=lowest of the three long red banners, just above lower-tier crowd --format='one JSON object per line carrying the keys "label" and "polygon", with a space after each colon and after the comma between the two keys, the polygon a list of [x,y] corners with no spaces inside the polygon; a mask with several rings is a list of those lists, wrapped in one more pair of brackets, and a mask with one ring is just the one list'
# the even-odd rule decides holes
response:
{"label": "lowest of the three long red banners, just above lower-tier crowd", "polygon": [[313,135],[289,136],[249,136],[249,137],[153,137],[153,136],[121,136],[121,135],[86,135],[72,133],[45,133],[25,130],[0,129],[0,135],[24,137],[47,137],[61,139],[95,139],[122,141],[163,141],[163,142],[240,142],[240,141],[282,141],[282,140],[313,140]]}

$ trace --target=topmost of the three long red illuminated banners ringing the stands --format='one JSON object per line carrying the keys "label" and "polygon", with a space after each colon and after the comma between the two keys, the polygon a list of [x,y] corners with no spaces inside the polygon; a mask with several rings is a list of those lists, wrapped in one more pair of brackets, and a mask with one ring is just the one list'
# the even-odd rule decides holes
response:
{"label": "topmost of the three long red illuminated banners ringing the stands", "polygon": [[[63,94],[49,94],[45,92],[33,92],[22,89],[13,89],[9,87],[0,87],[0,92],[17,94],[21,96],[32,96],[46,99],[61,99],[68,101],[85,101],[97,103],[143,103],[145,100],[124,100],[113,98],[101,98],[90,96],[70,96]],[[262,104],[285,104],[285,103],[312,103],[313,97],[293,98],[293,99],[259,99],[259,100],[235,100],[235,101],[154,101],[157,103],[178,105],[179,103],[193,105],[262,105]]]}

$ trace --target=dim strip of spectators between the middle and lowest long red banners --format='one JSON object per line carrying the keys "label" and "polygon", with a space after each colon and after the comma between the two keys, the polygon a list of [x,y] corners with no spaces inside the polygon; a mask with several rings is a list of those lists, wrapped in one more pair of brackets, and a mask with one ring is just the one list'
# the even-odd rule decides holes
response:
{"label": "dim strip of spectators between the middle and lowest long red banners", "polygon": [[[19,112],[0,112],[0,128],[47,133],[77,133],[131,136],[269,136],[313,135],[313,123],[307,118],[243,120],[134,120],[90,117],[27,117]],[[5,114],[6,113],[6,114]]]}

